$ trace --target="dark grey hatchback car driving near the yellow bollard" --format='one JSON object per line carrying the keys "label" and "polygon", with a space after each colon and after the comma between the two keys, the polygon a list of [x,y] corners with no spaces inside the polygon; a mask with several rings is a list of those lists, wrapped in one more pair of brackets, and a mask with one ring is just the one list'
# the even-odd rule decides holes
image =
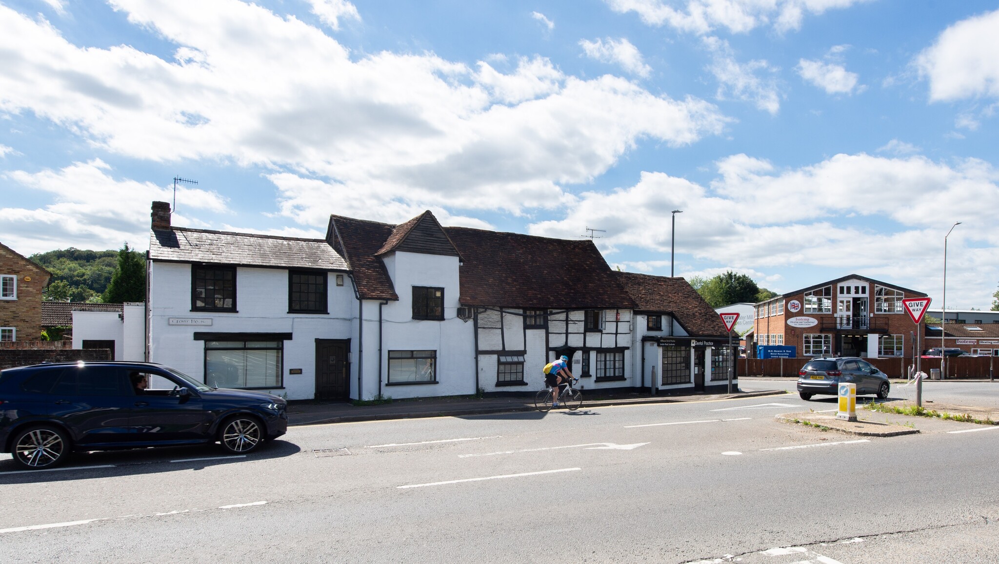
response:
{"label": "dark grey hatchback car driving near the yellow bollard", "polygon": [[805,401],[813,395],[839,395],[839,383],[857,384],[857,395],[888,397],[888,375],[856,356],[820,356],[798,370],[798,395]]}

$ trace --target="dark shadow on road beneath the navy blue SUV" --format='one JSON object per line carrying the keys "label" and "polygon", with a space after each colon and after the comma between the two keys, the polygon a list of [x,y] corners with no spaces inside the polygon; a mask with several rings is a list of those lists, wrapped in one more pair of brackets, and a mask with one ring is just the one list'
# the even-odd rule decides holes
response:
{"label": "dark shadow on road beneath the navy blue SUV", "polygon": [[[10,455],[0,459],[0,483],[44,483],[82,480],[106,476],[158,474],[179,470],[202,470],[209,466],[284,458],[302,451],[299,445],[285,441],[268,441],[245,456],[227,454],[218,445],[135,448],[103,452],[74,453],[60,468],[19,472]],[[202,458],[202,460],[197,460]],[[107,467],[111,465],[113,467]],[[105,467],[98,467],[105,466]],[[17,472],[17,473],[14,473]]]}

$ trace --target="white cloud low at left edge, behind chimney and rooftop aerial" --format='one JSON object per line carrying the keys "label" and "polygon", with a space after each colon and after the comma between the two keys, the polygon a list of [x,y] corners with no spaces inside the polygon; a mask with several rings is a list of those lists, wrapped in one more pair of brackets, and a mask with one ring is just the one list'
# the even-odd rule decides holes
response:
{"label": "white cloud low at left edge, behind chimney and rooftop aerial", "polygon": [[[80,249],[118,249],[123,242],[148,249],[150,204],[171,202],[173,189],[152,183],[118,180],[100,159],[73,163],[58,171],[13,171],[3,174],[9,184],[45,192],[53,203],[41,209],[0,208],[4,243],[24,253],[66,246]],[[200,227],[191,210],[225,213],[225,200],[215,192],[177,187],[175,225]]]}

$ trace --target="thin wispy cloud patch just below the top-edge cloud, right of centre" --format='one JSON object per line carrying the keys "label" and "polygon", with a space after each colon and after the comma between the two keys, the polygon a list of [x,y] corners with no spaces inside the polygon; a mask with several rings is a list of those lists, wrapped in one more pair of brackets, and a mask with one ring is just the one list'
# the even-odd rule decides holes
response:
{"label": "thin wispy cloud patch just below the top-edge cloud, right of centre", "polygon": [[703,43],[711,52],[708,70],[719,82],[719,100],[733,98],[751,102],[771,115],[780,110],[780,91],[774,77],[780,69],[764,60],[739,63],[728,42],[717,37],[705,37]]}

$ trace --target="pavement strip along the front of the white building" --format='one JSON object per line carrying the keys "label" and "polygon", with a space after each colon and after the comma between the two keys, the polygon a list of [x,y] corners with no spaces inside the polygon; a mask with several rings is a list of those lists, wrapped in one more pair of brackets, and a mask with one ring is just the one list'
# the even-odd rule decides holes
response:
{"label": "pavement strip along the front of the white building", "polygon": [[[595,392],[594,392],[595,393]],[[599,395],[589,399],[583,391],[583,407],[605,405],[631,405],[645,403],[678,403],[684,401],[707,401],[766,395],[784,395],[782,389],[762,389],[737,393],[690,393],[684,395],[651,396],[632,391],[613,392],[599,390]],[[375,421],[383,419],[411,419],[420,417],[444,417],[462,415],[485,415],[491,413],[515,413],[533,411],[533,397],[427,397],[399,399],[379,405],[353,405],[348,402],[302,401],[288,406],[289,425],[316,425],[321,423],[345,423],[353,421]]]}

